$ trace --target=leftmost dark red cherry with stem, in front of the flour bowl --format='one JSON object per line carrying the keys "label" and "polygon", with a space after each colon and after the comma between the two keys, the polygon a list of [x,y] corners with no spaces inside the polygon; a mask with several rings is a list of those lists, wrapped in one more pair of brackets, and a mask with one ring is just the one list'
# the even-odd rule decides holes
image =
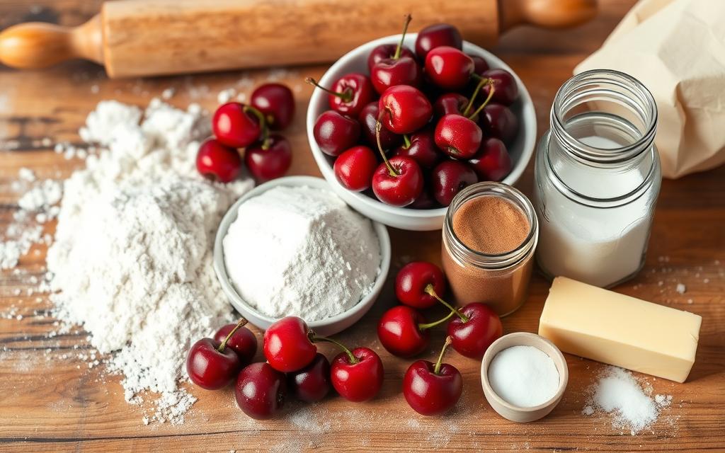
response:
{"label": "leftmost dark red cherry with stem, in front of the flour bowl", "polygon": [[[242,318],[235,328],[245,324],[247,320]],[[191,382],[207,390],[216,390],[234,380],[241,370],[241,362],[236,352],[226,345],[236,329],[223,341],[202,338],[191,346],[186,356],[186,372]]]}

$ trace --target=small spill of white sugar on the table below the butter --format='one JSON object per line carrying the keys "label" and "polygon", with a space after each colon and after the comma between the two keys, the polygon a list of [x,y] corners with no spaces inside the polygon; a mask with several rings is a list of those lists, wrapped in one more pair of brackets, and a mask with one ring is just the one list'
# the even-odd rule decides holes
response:
{"label": "small spill of white sugar on the table below the butter", "polygon": [[672,401],[671,395],[655,395],[653,399],[647,390],[651,394],[651,387],[643,389],[629,371],[608,366],[590,388],[591,395],[581,412],[607,412],[613,416],[614,427],[628,429],[635,435],[655,423],[660,409]]}

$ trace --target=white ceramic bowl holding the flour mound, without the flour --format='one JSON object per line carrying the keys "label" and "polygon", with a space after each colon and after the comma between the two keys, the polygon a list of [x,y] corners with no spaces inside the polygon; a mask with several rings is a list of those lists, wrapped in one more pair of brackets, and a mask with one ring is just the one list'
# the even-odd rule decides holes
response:
{"label": "white ceramic bowl holding the flour mound, without the flour", "polygon": [[[237,209],[239,209],[239,205],[244,203],[244,201],[253,198],[254,196],[258,196],[263,192],[268,191],[270,188],[277,186],[308,186],[314,188],[321,188],[324,190],[331,190],[330,185],[326,183],[325,180],[321,178],[313,178],[312,176],[288,176],[286,178],[271,180],[268,183],[257,186],[251,191],[247,192],[247,194],[241,196],[229,208],[229,210],[224,215],[221,223],[219,224],[217,236],[214,241],[214,270],[217,274],[217,278],[219,279],[219,283],[221,283],[222,285],[224,294],[226,294],[229,302],[231,302],[234,308],[236,308],[242,316],[247,318],[249,323],[252,323],[253,325],[256,325],[258,328],[261,329],[268,328],[270,325],[275,323],[278,318],[263,315],[262,313],[258,312],[257,309],[254,309],[249,304],[247,304],[247,302],[244,302],[244,299],[239,296],[239,293],[236,291],[233,284],[229,280],[229,275],[226,271],[226,265],[224,262],[223,240],[224,236],[226,236],[226,233],[229,230],[229,225],[231,225],[231,223],[236,220]],[[307,325],[309,325],[310,328],[312,328],[319,335],[334,335],[335,333],[343,331],[349,326],[357,323],[357,321],[360,320],[360,318],[368,312],[370,307],[373,307],[373,303],[375,303],[376,299],[380,295],[380,291],[383,288],[383,284],[385,283],[385,279],[388,275],[388,270],[390,268],[390,237],[388,236],[388,230],[386,230],[385,226],[381,225],[380,223],[373,222],[373,229],[375,230],[375,233],[380,241],[381,263],[380,273],[378,273],[378,278],[375,281],[375,285],[373,286],[372,291],[370,291],[369,294],[367,294],[362,300],[360,300],[360,302],[355,304],[355,306],[350,307],[339,315],[307,323]]]}

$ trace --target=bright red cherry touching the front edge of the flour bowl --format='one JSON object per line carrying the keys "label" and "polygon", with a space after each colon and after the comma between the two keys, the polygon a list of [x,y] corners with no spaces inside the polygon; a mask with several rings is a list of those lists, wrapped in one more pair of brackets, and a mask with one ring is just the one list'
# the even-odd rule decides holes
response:
{"label": "bright red cherry touching the front edge of the flour bowl", "polygon": [[267,362],[282,373],[301,370],[315,360],[317,346],[310,340],[310,328],[302,318],[286,316],[265,332]]}

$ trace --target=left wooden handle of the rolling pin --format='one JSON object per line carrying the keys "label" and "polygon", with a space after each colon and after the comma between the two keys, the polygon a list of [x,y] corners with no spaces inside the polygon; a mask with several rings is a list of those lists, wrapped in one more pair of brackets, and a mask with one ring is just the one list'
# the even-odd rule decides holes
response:
{"label": "left wooden handle of the rolling pin", "polygon": [[103,64],[100,16],[76,28],[46,22],[13,25],[0,33],[0,63],[19,69],[84,58]]}

